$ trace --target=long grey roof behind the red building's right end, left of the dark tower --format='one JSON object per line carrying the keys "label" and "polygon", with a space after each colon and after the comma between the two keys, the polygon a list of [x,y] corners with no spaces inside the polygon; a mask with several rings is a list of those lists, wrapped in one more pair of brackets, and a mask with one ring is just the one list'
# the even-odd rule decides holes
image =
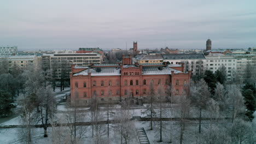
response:
{"label": "long grey roof behind the red building's right end, left of the dark tower", "polygon": [[164,59],[205,59],[203,54],[184,54],[184,53],[174,53],[162,55]]}

